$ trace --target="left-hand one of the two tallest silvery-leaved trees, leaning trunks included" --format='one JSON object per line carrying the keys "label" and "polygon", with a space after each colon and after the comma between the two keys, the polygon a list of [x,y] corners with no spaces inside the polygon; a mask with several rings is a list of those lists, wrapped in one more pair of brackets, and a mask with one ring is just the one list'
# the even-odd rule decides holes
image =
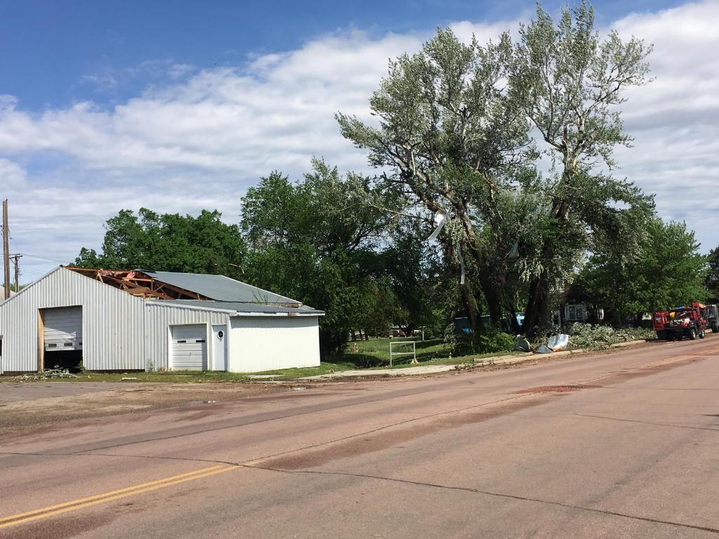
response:
{"label": "left-hand one of the two tallest silvery-leaved trees, leaning trunks included", "polygon": [[370,99],[376,125],[336,115],[344,137],[383,169],[377,189],[395,193],[405,211],[429,222],[437,215],[449,220],[439,241],[457,273],[466,268],[462,299],[475,328],[478,296],[493,321],[502,315],[479,228],[494,217],[495,193],[528,142],[528,122],[503,87],[509,55],[506,35],[497,44],[465,45],[440,29],[420,52],[390,62]]}

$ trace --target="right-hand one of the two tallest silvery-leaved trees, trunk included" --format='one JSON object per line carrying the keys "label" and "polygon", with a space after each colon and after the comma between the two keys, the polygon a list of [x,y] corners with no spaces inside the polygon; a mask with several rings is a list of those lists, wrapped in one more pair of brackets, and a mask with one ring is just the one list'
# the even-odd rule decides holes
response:
{"label": "right-hand one of the two tallest silvery-leaved trees, trunk included", "polygon": [[535,19],[520,29],[510,63],[511,94],[553,162],[541,234],[524,242],[530,260],[528,333],[548,321],[551,286],[564,277],[567,259],[586,249],[636,250],[639,236],[632,232],[651,211],[651,201],[597,168],[611,170],[613,148],[631,143],[616,107],[626,88],[646,82],[650,50],[641,40],[623,42],[616,32],[600,40],[586,2],[564,8],[557,25],[537,6]]}

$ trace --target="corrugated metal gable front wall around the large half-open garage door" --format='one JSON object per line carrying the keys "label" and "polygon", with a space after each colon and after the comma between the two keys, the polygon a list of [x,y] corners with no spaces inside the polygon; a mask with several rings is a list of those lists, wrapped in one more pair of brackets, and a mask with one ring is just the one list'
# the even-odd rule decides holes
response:
{"label": "corrugated metal gable front wall around the large half-open garage door", "polygon": [[83,364],[91,370],[145,369],[143,301],[60,267],[0,305],[0,373],[37,370],[38,309],[83,308]]}

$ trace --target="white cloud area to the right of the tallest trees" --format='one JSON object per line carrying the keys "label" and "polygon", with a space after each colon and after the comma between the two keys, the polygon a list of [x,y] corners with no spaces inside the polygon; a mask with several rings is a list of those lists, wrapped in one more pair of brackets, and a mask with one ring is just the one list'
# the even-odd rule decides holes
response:
{"label": "white cloud area to the right of the tallest trees", "polygon": [[649,85],[627,93],[635,137],[621,173],[656,193],[664,218],[687,221],[708,251],[719,244],[719,2],[633,14],[613,24],[654,45]]}

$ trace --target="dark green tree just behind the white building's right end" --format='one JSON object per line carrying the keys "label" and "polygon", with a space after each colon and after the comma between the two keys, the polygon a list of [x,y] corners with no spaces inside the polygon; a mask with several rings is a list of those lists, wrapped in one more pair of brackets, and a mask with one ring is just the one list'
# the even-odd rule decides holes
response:
{"label": "dark green tree just behind the white building's right end", "polygon": [[324,352],[340,351],[357,328],[388,326],[393,295],[377,248],[388,229],[385,212],[355,203],[355,185],[315,160],[303,180],[273,172],[242,199],[242,233],[250,247],[247,276],[256,285],[326,311]]}

